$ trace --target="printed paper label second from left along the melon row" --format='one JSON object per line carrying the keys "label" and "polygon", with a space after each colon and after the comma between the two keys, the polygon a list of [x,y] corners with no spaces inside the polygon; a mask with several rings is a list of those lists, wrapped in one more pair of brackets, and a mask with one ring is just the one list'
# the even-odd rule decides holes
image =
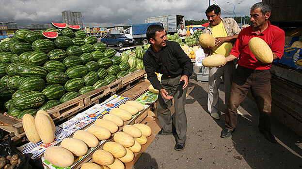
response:
{"label": "printed paper label second from left along the melon row", "polygon": [[60,127],[62,127],[64,130],[75,132],[94,121],[94,119],[84,117],[82,114],[78,114],[72,119],[60,125]]}

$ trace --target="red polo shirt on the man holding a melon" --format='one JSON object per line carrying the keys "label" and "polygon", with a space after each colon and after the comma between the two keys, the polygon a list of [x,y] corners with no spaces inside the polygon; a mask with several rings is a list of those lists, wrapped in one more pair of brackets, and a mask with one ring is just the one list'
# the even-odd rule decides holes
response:
{"label": "red polo shirt on the man holding a melon", "polygon": [[238,35],[237,41],[233,46],[230,54],[238,59],[238,65],[254,69],[254,70],[268,70],[271,64],[264,64],[258,61],[252,54],[249,48],[249,41],[253,37],[259,37],[263,39],[269,46],[273,53],[279,58],[282,57],[284,51],[285,34],[284,31],[276,26],[270,25],[262,33],[257,35],[252,26],[244,28]]}

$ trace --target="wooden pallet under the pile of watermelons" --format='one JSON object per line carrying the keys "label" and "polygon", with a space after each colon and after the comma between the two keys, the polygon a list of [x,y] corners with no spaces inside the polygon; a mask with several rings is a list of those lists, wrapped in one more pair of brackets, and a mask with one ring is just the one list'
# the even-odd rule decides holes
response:
{"label": "wooden pallet under the pile of watermelons", "polygon": [[[121,93],[135,84],[141,82],[140,79],[144,78],[145,70],[136,70],[125,77],[115,80],[107,86],[97,88],[89,93],[80,95],[75,99],[71,99],[60,105],[57,105],[47,110],[47,113],[52,117],[55,124],[62,123],[66,119],[70,119],[80,111],[87,109],[95,104],[99,103],[104,96],[112,96],[116,93]],[[105,100],[102,100],[105,101]],[[0,113],[0,128],[14,133],[15,136],[21,138],[25,136],[22,122],[20,119],[12,119]]]}

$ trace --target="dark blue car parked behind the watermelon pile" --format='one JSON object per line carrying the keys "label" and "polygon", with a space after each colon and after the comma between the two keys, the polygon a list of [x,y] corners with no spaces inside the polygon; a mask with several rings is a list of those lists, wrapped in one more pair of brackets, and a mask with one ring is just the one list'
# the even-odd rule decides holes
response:
{"label": "dark blue car parked behind the watermelon pile", "polygon": [[105,43],[106,46],[113,44],[114,46],[123,47],[125,44],[132,46],[134,44],[134,39],[129,39],[123,34],[107,34],[101,39],[101,42]]}

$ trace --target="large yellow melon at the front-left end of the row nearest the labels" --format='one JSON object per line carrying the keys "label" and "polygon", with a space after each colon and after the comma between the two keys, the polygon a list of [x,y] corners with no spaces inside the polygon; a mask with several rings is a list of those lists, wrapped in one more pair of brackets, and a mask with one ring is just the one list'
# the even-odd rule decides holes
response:
{"label": "large yellow melon at the front-left end of the row nearest the labels", "polygon": [[75,160],[70,151],[58,146],[48,147],[44,152],[44,158],[57,167],[69,167]]}

